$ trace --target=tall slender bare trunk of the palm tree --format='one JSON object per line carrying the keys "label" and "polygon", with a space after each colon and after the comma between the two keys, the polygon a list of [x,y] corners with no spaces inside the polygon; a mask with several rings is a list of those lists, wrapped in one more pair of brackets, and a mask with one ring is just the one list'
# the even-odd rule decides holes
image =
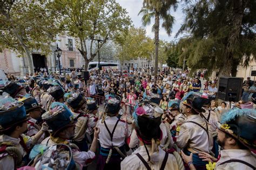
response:
{"label": "tall slender bare trunk of the palm tree", "polygon": [[154,59],[154,78],[157,79],[158,73],[158,46],[159,46],[159,21],[160,21],[160,13],[156,12],[154,18],[154,44],[156,45],[155,49],[155,59]]}

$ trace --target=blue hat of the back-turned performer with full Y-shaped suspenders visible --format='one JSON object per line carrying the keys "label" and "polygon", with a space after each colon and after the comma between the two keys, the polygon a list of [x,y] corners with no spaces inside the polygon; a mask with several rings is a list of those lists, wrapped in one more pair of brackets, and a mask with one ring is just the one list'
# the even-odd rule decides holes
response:
{"label": "blue hat of the back-turned performer with full Y-shaped suspenders visible", "polygon": [[[121,98],[116,95],[108,94],[105,96],[105,108],[107,114],[116,114],[121,106]],[[105,109],[104,109],[105,110]]]}

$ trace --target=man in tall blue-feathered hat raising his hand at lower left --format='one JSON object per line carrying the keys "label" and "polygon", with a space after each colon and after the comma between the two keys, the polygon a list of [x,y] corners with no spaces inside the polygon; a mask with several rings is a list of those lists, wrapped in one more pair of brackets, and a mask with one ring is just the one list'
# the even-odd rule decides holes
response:
{"label": "man in tall blue-feathered hat raising his hand at lower left", "polygon": [[73,160],[82,166],[87,166],[95,159],[97,147],[97,138],[99,129],[95,129],[94,140],[88,152],[80,152],[75,144],[70,140],[75,136],[76,117],[71,113],[69,108],[58,102],[51,104],[51,110],[42,115],[42,119],[52,130],[50,137],[44,139],[41,144],[52,146],[56,144],[66,144],[72,147]]}

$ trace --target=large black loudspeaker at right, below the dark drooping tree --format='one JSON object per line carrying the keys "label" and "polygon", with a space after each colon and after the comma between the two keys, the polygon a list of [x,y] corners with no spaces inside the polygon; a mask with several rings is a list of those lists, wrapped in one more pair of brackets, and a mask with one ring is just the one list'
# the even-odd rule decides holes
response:
{"label": "large black loudspeaker at right, below the dark drooping tree", "polygon": [[220,77],[217,98],[225,101],[238,102],[242,93],[242,81],[239,77]]}

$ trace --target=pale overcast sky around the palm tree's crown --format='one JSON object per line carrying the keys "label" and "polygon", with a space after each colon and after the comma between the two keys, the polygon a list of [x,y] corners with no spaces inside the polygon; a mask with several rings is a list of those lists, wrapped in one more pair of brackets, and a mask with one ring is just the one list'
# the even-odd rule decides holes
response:
{"label": "pale overcast sky around the palm tree's crown", "polygon": [[[116,2],[118,2],[123,8],[125,8],[127,10],[127,12],[129,13],[129,16],[132,19],[134,26],[136,26],[136,27],[142,26],[142,14],[138,16],[138,13],[139,13],[140,9],[142,9],[143,0],[116,0]],[[170,42],[173,39],[176,39],[176,38],[174,38],[174,36],[178,32],[181,24],[184,21],[184,14],[181,9],[181,5],[178,7],[176,12],[173,12],[173,10],[172,10],[172,16],[174,16],[174,18],[175,18],[175,23],[172,28],[171,36],[168,36],[166,31],[163,28],[161,28],[161,26],[160,26],[160,31],[159,31],[159,38],[167,40],[168,42]],[[151,38],[154,38],[154,32],[151,31],[153,22],[154,22],[154,20],[152,20],[151,25],[146,26],[146,28],[145,28],[146,32],[147,32],[147,36],[150,36]],[[160,23],[160,25],[161,25],[161,23]]]}

